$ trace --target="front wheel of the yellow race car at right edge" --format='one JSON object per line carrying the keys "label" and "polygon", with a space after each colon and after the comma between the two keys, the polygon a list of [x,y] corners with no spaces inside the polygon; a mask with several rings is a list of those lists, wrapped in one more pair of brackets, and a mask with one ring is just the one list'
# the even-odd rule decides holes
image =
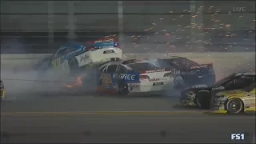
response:
{"label": "front wheel of the yellow race car at right edge", "polygon": [[244,111],[243,102],[238,98],[231,98],[226,102],[226,110],[230,114],[238,114]]}

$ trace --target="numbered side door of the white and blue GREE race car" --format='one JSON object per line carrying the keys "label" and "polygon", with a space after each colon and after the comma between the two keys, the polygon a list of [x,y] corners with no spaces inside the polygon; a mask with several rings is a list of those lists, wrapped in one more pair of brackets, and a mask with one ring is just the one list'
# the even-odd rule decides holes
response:
{"label": "numbered side door of the white and blue GREE race car", "polygon": [[118,65],[109,65],[104,68],[101,74],[102,86],[113,88],[114,86],[114,75],[116,74]]}

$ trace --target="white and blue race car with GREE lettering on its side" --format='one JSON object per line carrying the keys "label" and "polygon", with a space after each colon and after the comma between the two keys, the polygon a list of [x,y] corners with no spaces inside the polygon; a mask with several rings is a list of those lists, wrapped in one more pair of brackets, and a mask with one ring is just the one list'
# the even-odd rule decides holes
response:
{"label": "white and blue race car with GREE lettering on its side", "polygon": [[161,69],[146,60],[107,62],[99,68],[98,90],[118,94],[169,90],[174,86],[170,70]]}

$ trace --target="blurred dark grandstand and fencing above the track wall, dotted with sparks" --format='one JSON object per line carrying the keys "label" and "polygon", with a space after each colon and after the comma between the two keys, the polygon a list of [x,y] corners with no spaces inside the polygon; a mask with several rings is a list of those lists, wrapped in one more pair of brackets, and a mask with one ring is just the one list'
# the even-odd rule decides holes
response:
{"label": "blurred dark grandstand and fencing above the track wall, dotted with sparks", "polygon": [[255,51],[254,1],[1,1],[1,53],[118,37],[125,52]]}

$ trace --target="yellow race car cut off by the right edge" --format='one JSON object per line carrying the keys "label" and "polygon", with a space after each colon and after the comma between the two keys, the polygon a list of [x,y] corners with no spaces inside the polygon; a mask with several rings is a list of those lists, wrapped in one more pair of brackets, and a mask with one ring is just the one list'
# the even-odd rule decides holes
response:
{"label": "yellow race car cut off by the right edge", "polygon": [[211,99],[210,109],[218,114],[239,114],[256,111],[255,83],[241,90],[219,92]]}

